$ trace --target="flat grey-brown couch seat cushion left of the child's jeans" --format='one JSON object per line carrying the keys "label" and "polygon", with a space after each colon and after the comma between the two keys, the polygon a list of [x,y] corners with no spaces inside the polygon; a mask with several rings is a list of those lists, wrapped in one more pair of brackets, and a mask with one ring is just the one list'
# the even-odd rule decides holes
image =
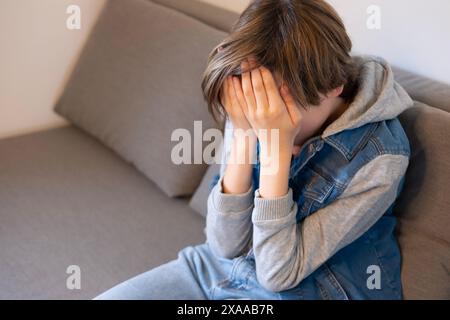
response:
{"label": "flat grey-brown couch seat cushion left of the child's jeans", "polygon": [[187,199],[74,127],[0,140],[0,154],[0,300],[91,299],[205,240]]}

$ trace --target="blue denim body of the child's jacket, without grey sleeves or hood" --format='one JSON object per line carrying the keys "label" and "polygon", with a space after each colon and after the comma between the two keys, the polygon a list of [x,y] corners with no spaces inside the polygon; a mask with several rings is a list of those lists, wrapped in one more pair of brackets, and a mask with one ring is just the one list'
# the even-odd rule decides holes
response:
{"label": "blue denim body of the child's jacket, without grey sleeves or hood", "polygon": [[[383,154],[410,155],[398,119],[311,139],[291,165],[289,186],[299,208],[297,223],[335,201],[355,172]],[[258,188],[259,161],[254,166],[253,181]],[[402,185],[403,178],[397,195]],[[396,218],[392,207],[360,238],[285,294],[301,294],[306,299],[400,299],[400,252],[394,237]]]}

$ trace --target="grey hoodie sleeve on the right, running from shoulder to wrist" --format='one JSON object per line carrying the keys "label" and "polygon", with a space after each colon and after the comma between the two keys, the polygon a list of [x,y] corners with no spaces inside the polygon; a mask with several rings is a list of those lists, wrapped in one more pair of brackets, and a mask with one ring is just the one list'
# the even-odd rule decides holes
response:
{"label": "grey hoodie sleeve on the right, running from shoulder to wrist", "polygon": [[263,199],[255,192],[253,249],[257,277],[270,291],[295,287],[355,241],[394,203],[408,157],[382,155],[361,168],[343,194],[297,224],[292,190]]}

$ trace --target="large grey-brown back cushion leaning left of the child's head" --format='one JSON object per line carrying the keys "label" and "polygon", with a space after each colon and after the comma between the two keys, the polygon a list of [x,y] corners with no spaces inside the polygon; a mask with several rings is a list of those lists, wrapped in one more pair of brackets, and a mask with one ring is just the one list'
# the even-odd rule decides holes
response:
{"label": "large grey-brown back cushion leaning left of the child's head", "polygon": [[191,195],[207,166],[171,161],[171,134],[215,127],[200,83],[225,33],[147,0],[110,0],[56,111],[133,163],[170,196]]}

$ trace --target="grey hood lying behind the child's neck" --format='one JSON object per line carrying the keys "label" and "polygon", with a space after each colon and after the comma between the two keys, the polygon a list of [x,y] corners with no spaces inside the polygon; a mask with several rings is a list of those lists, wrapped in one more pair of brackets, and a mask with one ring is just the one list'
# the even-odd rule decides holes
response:
{"label": "grey hood lying behind the child's neck", "polygon": [[413,105],[408,93],[394,80],[390,65],[375,56],[355,56],[358,91],[347,110],[322,134],[322,138],[394,119]]}

